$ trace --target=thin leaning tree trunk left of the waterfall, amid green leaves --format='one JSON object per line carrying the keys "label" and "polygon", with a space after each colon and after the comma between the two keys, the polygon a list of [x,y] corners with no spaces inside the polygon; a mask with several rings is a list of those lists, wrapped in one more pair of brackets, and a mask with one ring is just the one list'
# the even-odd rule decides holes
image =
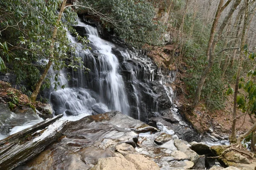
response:
{"label": "thin leaning tree trunk left of the waterfall, amid green leaves", "polygon": [[[58,20],[56,22],[57,26],[59,25],[59,22],[61,21],[61,16],[63,14],[66,1],[67,0],[63,0],[63,2],[62,2],[61,10],[60,10],[60,12],[58,14]],[[47,76],[49,68],[51,67],[52,62],[53,62],[53,57],[54,57],[53,56],[53,50],[54,50],[53,48],[54,48],[54,42],[55,42],[55,38],[56,38],[56,35],[57,35],[57,30],[58,30],[57,26],[54,27],[53,33],[52,33],[52,43],[51,43],[51,46],[50,46],[50,51],[51,52],[50,52],[49,62],[47,63],[46,68],[44,69],[44,73],[41,75],[40,79],[36,83],[35,90],[33,91],[32,95],[30,96],[30,99],[31,99],[32,102],[35,102],[36,97],[38,96],[38,93],[40,91],[41,85],[44,82],[44,79]]]}

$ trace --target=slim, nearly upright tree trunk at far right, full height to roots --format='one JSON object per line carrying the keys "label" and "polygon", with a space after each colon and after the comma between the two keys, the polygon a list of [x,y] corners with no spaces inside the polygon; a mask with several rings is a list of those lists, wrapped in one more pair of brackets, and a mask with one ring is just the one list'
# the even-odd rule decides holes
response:
{"label": "slim, nearly upright tree trunk at far right, full height to roots", "polygon": [[[239,85],[239,79],[240,79],[240,72],[242,69],[242,62],[243,62],[243,55],[244,55],[244,41],[245,41],[245,31],[247,26],[247,18],[248,18],[248,0],[245,1],[245,15],[244,15],[244,26],[243,31],[241,34],[241,44],[240,44],[240,53],[239,53],[239,66],[236,73],[236,86],[235,86],[235,92],[234,92],[234,107],[233,107],[233,122],[232,122],[232,128],[231,128],[231,136],[230,136],[230,142],[235,143],[236,142],[236,111],[237,111],[237,94],[238,94],[238,85]],[[256,127],[256,124],[255,124]],[[255,130],[255,129],[254,129]],[[250,132],[251,133],[251,132]],[[250,134],[249,133],[249,134]],[[248,135],[247,135],[248,136]],[[238,141],[240,138],[238,139]],[[240,141],[241,142],[241,141]]]}

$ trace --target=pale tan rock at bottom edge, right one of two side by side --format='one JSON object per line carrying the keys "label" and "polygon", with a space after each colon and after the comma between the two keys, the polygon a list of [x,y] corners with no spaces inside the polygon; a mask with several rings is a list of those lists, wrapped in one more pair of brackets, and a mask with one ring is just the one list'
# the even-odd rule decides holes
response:
{"label": "pale tan rock at bottom edge, right one of two side by side", "polygon": [[142,155],[128,154],[125,156],[125,159],[133,162],[137,170],[160,170],[154,161]]}

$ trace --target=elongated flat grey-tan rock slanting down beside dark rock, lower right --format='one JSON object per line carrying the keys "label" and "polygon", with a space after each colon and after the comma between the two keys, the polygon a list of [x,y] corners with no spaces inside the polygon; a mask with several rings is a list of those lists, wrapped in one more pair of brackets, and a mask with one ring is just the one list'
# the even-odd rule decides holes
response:
{"label": "elongated flat grey-tan rock slanting down beside dark rock, lower right", "polygon": [[183,153],[185,153],[192,162],[196,162],[199,158],[199,155],[191,150],[186,144],[184,144],[183,142],[181,142],[179,139],[174,139],[174,144],[177,147],[177,150],[182,151]]}

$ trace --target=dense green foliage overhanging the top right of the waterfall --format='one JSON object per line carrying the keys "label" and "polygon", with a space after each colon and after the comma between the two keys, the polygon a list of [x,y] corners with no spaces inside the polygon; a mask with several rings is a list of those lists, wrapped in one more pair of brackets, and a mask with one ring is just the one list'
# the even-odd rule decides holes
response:
{"label": "dense green foliage overhanging the top right of the waterfall", "polygon": [[154,7],[147,0],[79,0],[78,4],[100,11],[105,28],[131,45],[160,44],[165,28],[154,20]]}

